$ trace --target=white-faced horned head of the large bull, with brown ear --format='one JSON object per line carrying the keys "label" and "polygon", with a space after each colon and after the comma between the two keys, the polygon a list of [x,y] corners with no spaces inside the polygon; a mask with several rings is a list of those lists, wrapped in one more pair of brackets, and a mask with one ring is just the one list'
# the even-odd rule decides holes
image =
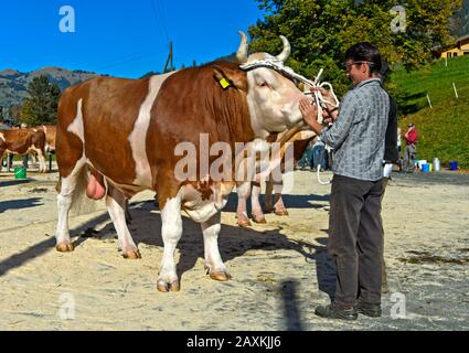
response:
{"label": "white-faced horned head of the large bull, with brown ear", "polygon": [[[242,40],[236,54],[238,64],[246,65],[259,60],[285,62],[290,55],[290,44],[280,36],[284,51],[273,56],[268,53],[247,54],[246,34],[239,32]],[[266,138],[270,132],[281,132],[296,126],[302,126],[299,100],[303,98],[295,83],[269,67],[253,67],[246,73],[214,67],[217,78],[225,77],[236,88],[244,90],[247,97],[252,128],[256,137]]]}

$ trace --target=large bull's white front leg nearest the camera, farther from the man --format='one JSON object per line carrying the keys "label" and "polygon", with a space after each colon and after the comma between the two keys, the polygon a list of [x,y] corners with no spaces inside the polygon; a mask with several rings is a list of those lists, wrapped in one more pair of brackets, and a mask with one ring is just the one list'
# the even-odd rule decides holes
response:
{"label": "large bull's white front leg nearest the camera, farther from the man", "polygon": [[[162,204],[162,200],[159,200]],[[179,279],[175,272],[174,250],[182,235],[181,196],[168,199],[161,210],[161,234],[163,238],[163,258],[158,278],[158,290],[162,292],[179,291]]]}

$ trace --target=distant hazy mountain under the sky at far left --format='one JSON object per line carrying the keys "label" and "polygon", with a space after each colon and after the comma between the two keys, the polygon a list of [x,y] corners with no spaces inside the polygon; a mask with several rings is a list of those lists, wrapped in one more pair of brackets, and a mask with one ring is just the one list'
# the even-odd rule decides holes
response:
{"label": "distant hazy mountain under the sky at far left", "polygon": [[0,106],[8,108],[21,104],[28,98],[28,84],[34,78],[45,75],[61,90],[77,83],[99,76],[85,71],[70,71],[61,67],[44,67],[31,73],[21,73],[13,68],[0,71]]}

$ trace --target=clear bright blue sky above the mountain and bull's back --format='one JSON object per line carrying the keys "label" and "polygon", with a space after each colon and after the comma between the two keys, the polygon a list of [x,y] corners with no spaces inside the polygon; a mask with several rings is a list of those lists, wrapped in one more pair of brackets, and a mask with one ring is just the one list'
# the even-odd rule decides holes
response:
{"label": "clear bright blue sky above the mountain and bull's back", "polygon": [[[75,33],[60,31],[60,9],[75,11]],[[44,66],[139,77],[231,54],[238,30],[262,19],[255,0],[18,0],[0,4],[0,71]]]}

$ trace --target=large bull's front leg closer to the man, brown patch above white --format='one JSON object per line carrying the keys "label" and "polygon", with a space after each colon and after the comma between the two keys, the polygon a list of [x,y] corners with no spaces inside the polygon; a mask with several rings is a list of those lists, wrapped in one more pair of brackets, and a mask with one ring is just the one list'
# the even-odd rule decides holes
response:
{"label": "large bull's front leg closer to the man, brown patch above white", "polygon": [[207,222],[201,224],[205,252],[205,268],[212,279],[226,281],[231,278],[223,264],[218,250],[218,234],[221,229],[221,212],[217,212]]}

